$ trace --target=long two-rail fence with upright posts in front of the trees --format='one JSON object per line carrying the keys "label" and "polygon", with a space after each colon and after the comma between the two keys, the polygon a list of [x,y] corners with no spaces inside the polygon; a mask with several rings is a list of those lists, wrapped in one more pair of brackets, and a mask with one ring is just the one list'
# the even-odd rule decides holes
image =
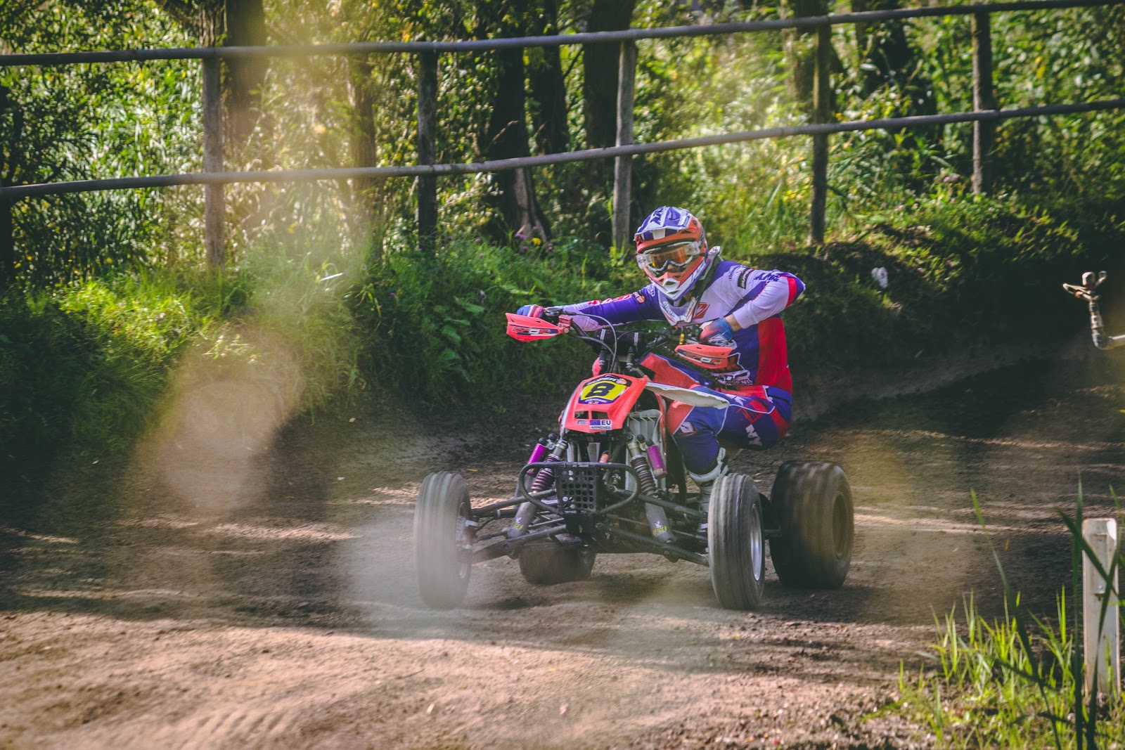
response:
{"label": "long two-rail fence with upright posts in front of the trees", "polygon": [[[876,10],[845,15],[786,18],[765,21],[736,24],[712,24],[706,26],[677,26],[620,31],[565,34],[539,37],[512,37],[477,39],[467,42],[372,42],[354,44],[287,45],[272,47],[192,47],[172,49],[124,49],[100,52],[72,52],[47,54],[0,55],[0,67],[19,65],[70,65],[87,63],[147,62],[160,60],[200,60],[202,62],[204,93],[204,169],[201,173],[163,174],[106,180],[79,180],[45,184],[0,187],[0,200],[14,201],[35,196],[87,192],[96,190],[122,190],[137,188],[161,188],[183,184],[206,186],[205,226],[208,261],[222,265],[225,260],[225,232],[223,227],[223,186],[235,182],[296,182],[310,180],[348,180],[376,177],[417,177],[418,205],[417,229],[424,246],[432,247],[432,238],[438,228],[436,178],[439,175],[500,172],[530,169],[568,162],[614,159],[613,195],[613,240],[621,246],[629,234],[629,195],[631,182],[631,157],[682,148],[699,148],[727,143],[746,143],[767,138],[812,136],[812,189],[810,208],[809,241],[824,242],[825,205],[827,198],[828,136],[834,133],[856,130],[902,129],[927,125],[973,123],[973,175],[974,192],[989,189],[988,156],[992,148],[994,125],[998,121],[1020,117],[1043,117],[1089,112],[1109,109],[1125,109],[1125,98],[1094,102],[1047,105],[999,109],[992,85],[992,48],[989,15],[992,12],[1050,10],[1122,4],[1125,0],[1026,0],[1022,2],[976,3],[969,6],[939,6]],[[896,117],[878,120],[836,123],[831,110],[832,92],[829,85],[831,27],[843,24],[866,24],[873,21],[901,20],[909,18],[933,18],[943,16],[970,16],[973,39],[973,109],[971,112]],[[641,39],[667,39],[698,36],[720,36],[730,34],[770,31],[781,29],[817,28],[817,55],[814,60],[813,115],[809,125],[764,128],[719,135],[662,141],[658,143],[632,143],[633,71],[636,69],[636,43]],[[548,47],[570,44],[618,42],[621,45],[618,96],[616,145],[559,154],[525,156],[486,161],[469,164],[434,164],[436,153],[436,94],[438,54],[480,52],[511,47]],[[344,169],[307,169],[258,172],[226,172],[223,170],[223,123],[219,91],[219,65],[224,58],[236,57],[304,57],[313,55],[370,55],[370,54],[416,54],[421,73],[417,81],[417,147],[418,164],[412,166],[369,166]]]}

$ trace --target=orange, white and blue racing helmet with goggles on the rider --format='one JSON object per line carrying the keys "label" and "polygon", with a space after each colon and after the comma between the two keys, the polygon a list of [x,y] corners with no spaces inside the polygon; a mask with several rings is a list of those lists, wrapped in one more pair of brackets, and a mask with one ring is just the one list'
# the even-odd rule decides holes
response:
{"label": "orange, white and blue racing helmet with goggles on the rider", "polygon": [[637,265],[669,302],[678,305],[716,262],[703,225],[691,211],[662,206],[648,215],[633,235]]}

